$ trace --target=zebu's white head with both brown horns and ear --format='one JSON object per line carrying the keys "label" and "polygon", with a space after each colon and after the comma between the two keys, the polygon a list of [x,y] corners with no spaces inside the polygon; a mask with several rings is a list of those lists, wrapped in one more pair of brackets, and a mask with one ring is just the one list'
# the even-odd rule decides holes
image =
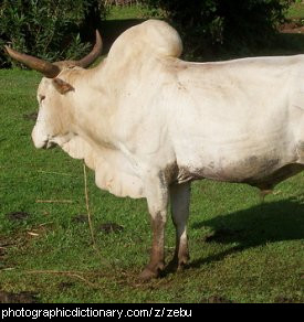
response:
{"label": "zebu's white head with both brown horns and ear", "polygon": [[69,104],[69,95],[73,95],[75,89],[66,82],[65,75],[73,73],[73,69],[90,66],[101,55],[102,46],[102,37],[96,31],[96,43],[88,55],[80,61],[56,63],[49,63],[6,46],[13,60],[44,75],[38,88],[39,114],[32,131],[36,148],[50,148],[54,143],[62,146],[73,136],[69,127],[71,116],[65,105]]}

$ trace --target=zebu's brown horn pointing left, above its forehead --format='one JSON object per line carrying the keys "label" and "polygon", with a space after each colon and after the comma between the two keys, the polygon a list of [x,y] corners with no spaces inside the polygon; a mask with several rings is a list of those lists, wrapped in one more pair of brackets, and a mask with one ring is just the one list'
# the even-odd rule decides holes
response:
{"label": "zebu's brown horn pointing left, above its forehead", "polygon": [[48,78],[54,78],[59,75],[60,73],[60,67],[45,62],[43,60],[27,55],[27,54],[22,54],[19,53],[12,49],[10,49],[9,46],[4,46],[6,51],[8,52],[8,54],[15,61],[27,65],[28,67],[35,69],[38,72],[41,72],[45,77]]}

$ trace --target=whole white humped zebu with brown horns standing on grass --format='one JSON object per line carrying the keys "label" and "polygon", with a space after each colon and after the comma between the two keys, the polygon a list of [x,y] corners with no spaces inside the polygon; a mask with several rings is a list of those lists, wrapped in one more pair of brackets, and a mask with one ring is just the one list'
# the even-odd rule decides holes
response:
{"label": "whole white humped zebu with brown horns standing on grass", "polygon": [[149,20],[124,32],[97,67],[101,39],[80,62],[46,63],[7,47],[46,77],[38,89],[36,148],[57,143],[84,159],[96,184],[118,196],[146,197],[150,261],[164,268],[168,201],[177,232],[174,262],[189,258],[190,182],[213,179],[262,190],[304,163],[304,56],[220,63],[179,60],[178,33]]}

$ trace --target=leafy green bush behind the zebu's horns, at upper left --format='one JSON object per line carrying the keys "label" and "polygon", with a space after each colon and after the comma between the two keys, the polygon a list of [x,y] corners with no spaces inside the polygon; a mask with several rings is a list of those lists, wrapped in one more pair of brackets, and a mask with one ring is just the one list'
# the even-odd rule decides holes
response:
{"label": "leafy green bush behind the zebu's horns, at upper left", "polygon": [[[88,32],[94,36],[101,15],[98,0],[2,0],[0,1],[0,45],[36,55],[48,61],[77,58],[88,49]],[[2,51],[0,66],[11,62]]]}

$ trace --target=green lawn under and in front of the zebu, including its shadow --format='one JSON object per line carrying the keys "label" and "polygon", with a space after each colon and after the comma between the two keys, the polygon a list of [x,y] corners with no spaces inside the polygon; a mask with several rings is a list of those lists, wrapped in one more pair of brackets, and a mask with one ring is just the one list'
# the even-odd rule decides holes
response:
{"label": "green lawn under and in front of the zebu, including its shadow", "polygon": [[[36,110],[39,80],[34,72],[0,71],[0,291],[34,292],[40,302],[303,302],[303,174],[264,204],[247,185],[193,183],[188,269],[140,283],[150,248],[146,202],[99,191],[88,172],[93,247],[87,223],[77,221],[86,213],[82,162],[31,142],[34,121],[23,116]],[[29,216],[8,216],[20,211]],[[104,223],[123,230],[106,234]],[[169,219],[167,261],[174,245]]]}

